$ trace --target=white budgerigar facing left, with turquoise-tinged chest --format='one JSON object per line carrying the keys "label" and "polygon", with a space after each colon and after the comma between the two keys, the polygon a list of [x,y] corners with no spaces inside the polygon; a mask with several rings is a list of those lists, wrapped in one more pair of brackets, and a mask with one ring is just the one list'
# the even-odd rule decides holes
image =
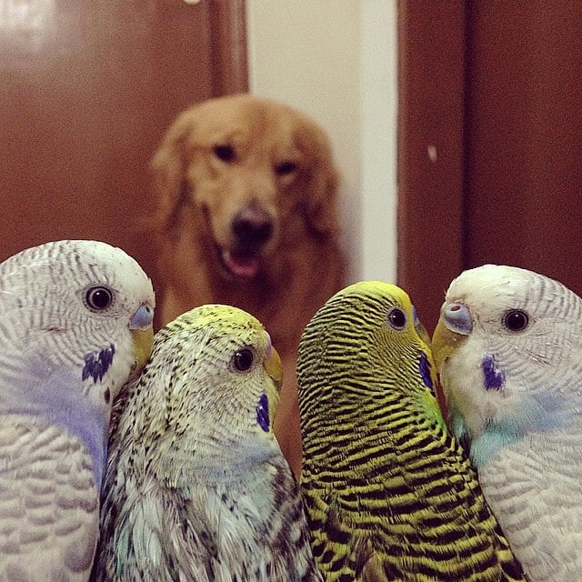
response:
{"label": "white budgerigar facing left, with turquoise-tinged chest", "polygon": [[451,426],[527,577],[580,579],[582,299],[526,269],[469,269],[434,349]]}

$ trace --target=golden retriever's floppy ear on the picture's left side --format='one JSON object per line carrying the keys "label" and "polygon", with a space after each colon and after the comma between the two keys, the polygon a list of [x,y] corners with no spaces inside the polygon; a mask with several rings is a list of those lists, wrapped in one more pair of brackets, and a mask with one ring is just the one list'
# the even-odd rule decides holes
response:
{"label": "golden retriever's floppy ear on the picture's left side", "polygon": [[195,130],[196,116],[196,105],[178,115],[150,161],[156,204],[152,222],[158,231],[166,231],[172,226],[176,211],[187,196],[186,141]]}

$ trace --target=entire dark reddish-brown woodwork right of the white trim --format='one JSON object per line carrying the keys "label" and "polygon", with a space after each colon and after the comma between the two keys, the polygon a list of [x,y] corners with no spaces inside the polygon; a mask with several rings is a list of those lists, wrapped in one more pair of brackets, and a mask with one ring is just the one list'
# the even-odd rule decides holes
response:
{"label": "entire dark reddish-brown woodwork right of the white trim", "polygon": [[582,294],[582,4],[399,10],[399,282],[426,326],[451,278],[484,263]]}

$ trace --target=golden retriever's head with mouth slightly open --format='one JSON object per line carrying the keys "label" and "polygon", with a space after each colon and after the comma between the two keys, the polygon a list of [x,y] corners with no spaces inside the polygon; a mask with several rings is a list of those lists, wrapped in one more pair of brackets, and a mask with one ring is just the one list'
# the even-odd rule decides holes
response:
{"label": "golden retriever's head with mouth slightly open", "polygon": [[158,232],[189,206],[225,276],[253,278],[283,240],[335,234],[329,140],[286,105],[252,95],[195,105],[169,127],[152,170]]}

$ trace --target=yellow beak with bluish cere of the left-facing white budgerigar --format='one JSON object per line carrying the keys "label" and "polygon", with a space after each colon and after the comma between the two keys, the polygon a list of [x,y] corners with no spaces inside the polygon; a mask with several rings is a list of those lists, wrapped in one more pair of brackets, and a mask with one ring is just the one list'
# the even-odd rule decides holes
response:
{"label": "yellow beak with bluish cere of the left-facing white budgerigar", "polygon": [[440,370],[443,362],[467,339],[472,330],[471,313],[466,306],[460,303],[445,303],[441,307],[432,341],[437,370]]}

